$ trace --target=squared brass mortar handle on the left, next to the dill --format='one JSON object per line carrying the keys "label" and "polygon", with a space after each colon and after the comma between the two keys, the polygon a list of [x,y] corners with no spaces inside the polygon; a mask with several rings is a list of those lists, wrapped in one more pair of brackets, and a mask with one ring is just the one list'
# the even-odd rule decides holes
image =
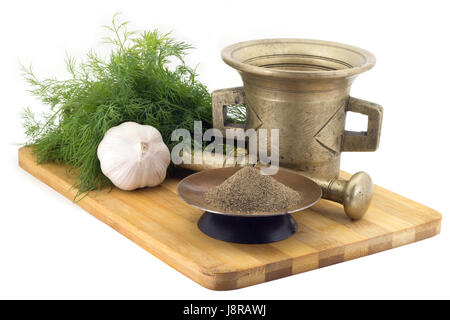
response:
{"label": "squared brass mortar handle on the left, next to the dill", "polygon": [[244,104],[245,94],[243,87],[234,87],[213,91],[212,99],[212,120],[213,127],[219,129],[225,136],[226,129],[245,129],[245,124],[227,123],[227,106],[232,104]]}

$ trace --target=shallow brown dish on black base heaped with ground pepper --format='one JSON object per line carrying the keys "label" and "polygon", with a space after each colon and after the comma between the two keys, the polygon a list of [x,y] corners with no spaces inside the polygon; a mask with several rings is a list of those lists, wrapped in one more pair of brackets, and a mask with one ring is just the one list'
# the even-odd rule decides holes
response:
{"label": "shallow brown dish on black base heaped with ground pepper", "polygon": [[279,169],[232,167],[201,171],[184,178],[178,195],[205,213],[199,229],[215,239],[267,243],[285,239],[298,229],[291,213],[313,206],[322,196],[312,180]]}

